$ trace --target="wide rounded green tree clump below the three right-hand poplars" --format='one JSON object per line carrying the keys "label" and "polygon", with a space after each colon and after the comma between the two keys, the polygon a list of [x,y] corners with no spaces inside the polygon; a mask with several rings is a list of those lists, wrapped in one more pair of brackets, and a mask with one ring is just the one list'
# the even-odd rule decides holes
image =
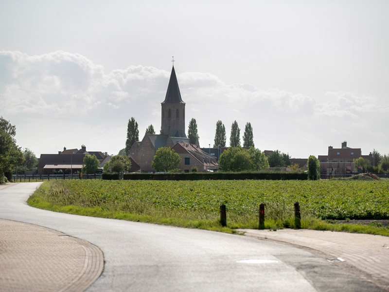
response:
{"label": "wide rounded green tree clump below the three right-hand poplars", "polygon": [[229,147],[219,157],[224,171],[256,171],[269,168],[265,153],[254,147],[244,149],[240,145]]}

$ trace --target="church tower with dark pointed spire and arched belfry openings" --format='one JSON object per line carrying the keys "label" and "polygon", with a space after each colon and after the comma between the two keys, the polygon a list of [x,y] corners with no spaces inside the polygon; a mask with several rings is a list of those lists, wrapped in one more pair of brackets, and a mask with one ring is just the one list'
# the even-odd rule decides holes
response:
{"label": "church tower with dark pointed spire and arched belfry openings", "polygon": [[186,138],[185,103],[181,99],[174,65],[162,106],[161,134]]}

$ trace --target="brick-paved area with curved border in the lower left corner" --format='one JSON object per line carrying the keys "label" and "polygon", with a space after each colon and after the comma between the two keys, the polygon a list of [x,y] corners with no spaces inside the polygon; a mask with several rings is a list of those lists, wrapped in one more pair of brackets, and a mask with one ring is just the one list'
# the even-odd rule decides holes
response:
{"label": "brick-paved area with curved border in the lower left corner", "polygon": [[103,268],[102,251],[85,240],[0,219],[0,292],[82,292]]}

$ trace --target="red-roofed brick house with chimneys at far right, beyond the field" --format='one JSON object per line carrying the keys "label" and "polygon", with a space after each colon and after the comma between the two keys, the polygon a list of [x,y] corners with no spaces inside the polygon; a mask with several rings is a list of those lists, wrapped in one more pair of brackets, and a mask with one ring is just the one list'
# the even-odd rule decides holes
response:
{"label": "red-roofed brick house with chimneys at far right, beyond the field", "polygon": [[367,159],[371,165],[374,165],[374,157],[371,152],[369,155],[362,155],[361,148],[350,148],[346,141],[342,142],[341,148],[328,146],[327,155],[318,155],[320,172],[326,173],[333,170],[338,174],[350,173],[355,169],[354,159],[360,157]]}

